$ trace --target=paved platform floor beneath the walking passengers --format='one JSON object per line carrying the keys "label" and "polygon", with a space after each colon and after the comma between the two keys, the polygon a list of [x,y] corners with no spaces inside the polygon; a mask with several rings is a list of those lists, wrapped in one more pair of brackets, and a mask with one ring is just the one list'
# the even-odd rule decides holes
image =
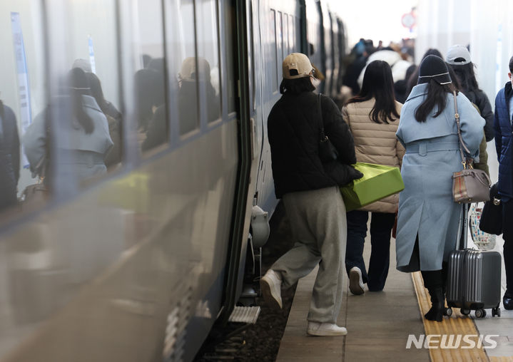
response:
{"label": "paved platform floor beneath the walking passengers", "polygon": [[[502,240],[497,240],[496,249],[502,249]],[[365,261],[370,257],[370,240],[365,242]],[[504,272],[503,272],[504,273]],[[362,296],[354,296],[344,280],[343,304],[337,323],[347,328],[345,337],[313,337],[306,335],[308,306],[317,275],[314,269],[298,282],[293,306],[290,309],[288,324],[278,351],[278,362],[306,361],[513,361],[513,311],[502,309],[502,317],[492,318],[490,311],[484,319],[474,319],[470,334],[493,334],[497,347],[487,349],[480,357],[460,356],[457,350],[450,353],[435,353],[430,349],[407,349],[410,334],[419,338],[428,334],[422,320],[412,274],[395,269],[395,240],[390,248],[390,270],[385,290],[367,291]],[[504,284],[504,274],[503,274]],[[504,288],[504,286],[503,286]],[[457,314],[452,317],[457,321]],[[467,317],[464,317],[467,318]],[[472,314],[473,318],[473,314]],[[432,322],[435,323],[435,322]],[[435,328],[439,326],[435,325]],[[458,332],[461,334],[469,332]],[[440,334],[444,331],[440,330]],[[463,351],[463,350],[462,350]],[[467,353],[467,351],[463,351]],[[506,358],[500,358],[500,357]]]}

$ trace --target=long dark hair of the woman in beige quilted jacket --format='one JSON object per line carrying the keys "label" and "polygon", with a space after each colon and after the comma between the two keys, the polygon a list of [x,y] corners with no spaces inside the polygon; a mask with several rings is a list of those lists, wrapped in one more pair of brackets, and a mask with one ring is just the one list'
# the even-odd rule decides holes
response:
{"label": "long dark hair of the woman in beige quilted jacket", "polygon": [[388,123],[387,120],[399,119],[395,106],[394,80],[392,69],[386,61],[372,61],[365,69],[360,93],[347,101],[360,103],[375,98],[374,107],[370,110],[370,119],[375,123]]}

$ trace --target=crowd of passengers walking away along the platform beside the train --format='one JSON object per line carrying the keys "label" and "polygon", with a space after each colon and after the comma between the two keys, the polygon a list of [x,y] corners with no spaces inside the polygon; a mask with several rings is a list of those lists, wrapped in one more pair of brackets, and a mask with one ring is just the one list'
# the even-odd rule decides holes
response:
{"label": "crowd of passengers walking away along the platform beside the train", "polygon": [[[280,289],[318,266],[309,335],[347,333],[337,325],[345,277],[355,295],[386,288],[392,229],[397,269],[421,272],[432,303],[425,319],[443,321],[449,254],[466,232],[459,229],[467,205],[454,202],[452,175],[467,164],[489,175],[491,140],[502,205],[507,281],[502,302],[504,309],[513,309],[513,230],[507,222],[513,217],[513,57],[510,81],[497,94],[493,111],[479,89],[467,47],[454,45],[446,54],[443,58],[429,49],[415,66],[397,48],[376,49],[361,39],[345,71],[347,97],[341,109],[315,94],[318,75],[308,56],[291,53],[283,61],[283,95],[270,112],[268,139],[276,197],[285,205],[295,245],[270,267],[260,286],[265,301],[280,308]],[[326,143],[332,157],[325,157]],[[400,168],[404,190],[346,212],[340,187],[362,178],[356,162]]]}

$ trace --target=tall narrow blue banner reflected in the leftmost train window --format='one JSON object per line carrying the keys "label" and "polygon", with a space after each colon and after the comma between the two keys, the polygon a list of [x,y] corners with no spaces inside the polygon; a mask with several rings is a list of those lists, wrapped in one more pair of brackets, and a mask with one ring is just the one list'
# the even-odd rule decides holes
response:
{"label": "tall narrow blue banner reflected in the leftmost train window", "polygon": [[[27,128],[32,123],[31,98],[29,86],[29,72],[26,66],[25,45],[23,33],[21,31],[21,21],[19,13],[11,12],[11,29],[14,46],[14,56],[16,57],[16,71],[18,73],[18,97],[19,97],[19,115],[21,122],[21,135],[25,134]],[[29,161],[26,159],[25,152],[22,156],[23,167],[29,167]]]}

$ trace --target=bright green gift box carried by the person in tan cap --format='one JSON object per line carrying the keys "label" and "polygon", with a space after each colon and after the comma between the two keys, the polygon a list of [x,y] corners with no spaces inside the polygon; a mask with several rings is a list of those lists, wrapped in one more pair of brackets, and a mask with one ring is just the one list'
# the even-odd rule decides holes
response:
{"label": "bright green gift box carried by the person in tan cap", "polygon": [[397,167],[365,162],[356,162],[353,167],[362,172],[363,177],[340,187],[346,211],[359,209],[405,190],[401,172]]}

